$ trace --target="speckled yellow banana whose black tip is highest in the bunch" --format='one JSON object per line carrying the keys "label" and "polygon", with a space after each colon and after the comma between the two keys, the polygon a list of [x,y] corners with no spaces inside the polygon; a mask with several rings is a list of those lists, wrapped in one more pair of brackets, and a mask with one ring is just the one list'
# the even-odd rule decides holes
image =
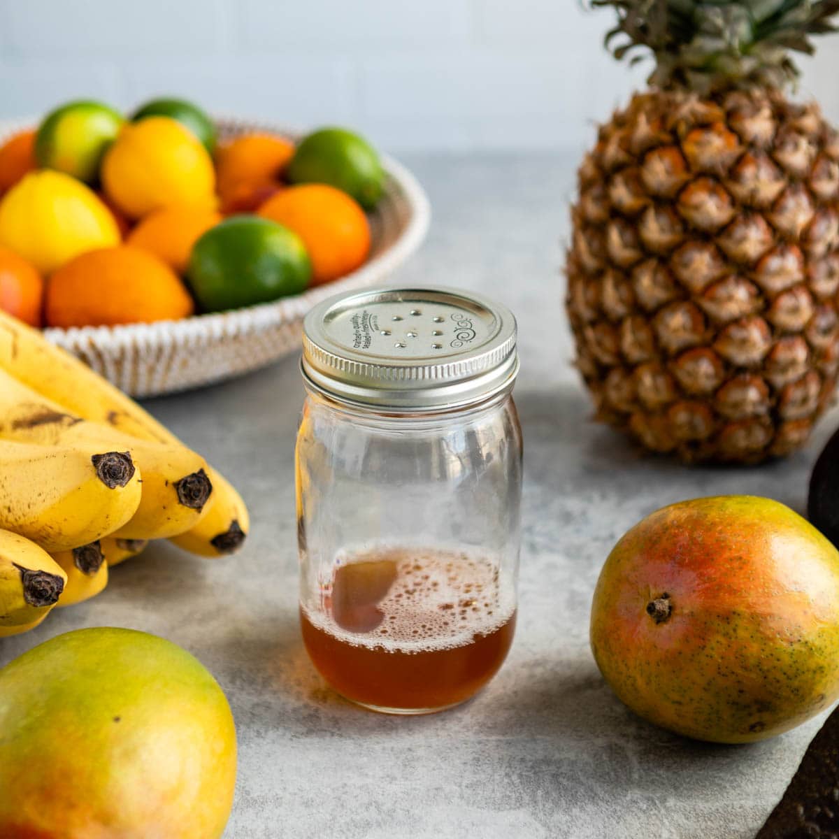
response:
{"label": "speckled yellow banana whose black tip is highest in the bunch", "polygon": [[0,528],[46,551],[112,533],[139,503],[140,473],[128,451],[0,439]]}

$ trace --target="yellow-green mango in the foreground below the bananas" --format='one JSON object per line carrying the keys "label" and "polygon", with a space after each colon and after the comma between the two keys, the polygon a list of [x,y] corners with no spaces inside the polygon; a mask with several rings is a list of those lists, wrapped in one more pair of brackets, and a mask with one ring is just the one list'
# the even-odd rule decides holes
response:
{"label": "yellow-green mango in the foreground below the bananas", "polygon": [[221,688],[163,638],[80,629],[0,670],[3,839],[217,839],[235,779]]}

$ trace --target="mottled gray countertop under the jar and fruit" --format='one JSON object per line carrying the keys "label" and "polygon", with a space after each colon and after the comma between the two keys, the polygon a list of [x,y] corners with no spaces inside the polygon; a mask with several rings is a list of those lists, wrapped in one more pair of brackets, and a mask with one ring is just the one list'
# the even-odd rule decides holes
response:
{"label": "mottled gray countertop under the jar and fruit", "polygon": [[241,555],[201,560],[168,543],[115,569],[102,596],[0,642],[0,664],[72,628],[117,625],[196,654],[237,720],[230,839],[738,839],[753,836],[821,720],[752,746],[693,743],[638,720],[602,681],[588,611],[608,551],[638,519],[726,492],[805,506],[806,451],[753,469],[687,469],[642,456],[590,422],[570,367],[561,242],[573,161],[409,157],[434,221],[399,274],[480,289],[519,317],[524,541],[519,628],[475,700],[431,717],[381,717],[329,690],[296,610],[293,449],[302,388],[293,358],[246,378],[149,402],[241,489]]}

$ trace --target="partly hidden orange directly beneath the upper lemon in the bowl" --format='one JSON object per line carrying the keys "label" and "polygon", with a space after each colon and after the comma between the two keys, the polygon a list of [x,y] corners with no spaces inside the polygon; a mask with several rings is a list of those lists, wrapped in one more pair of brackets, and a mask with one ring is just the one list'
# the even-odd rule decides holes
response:
{"label": "partly hidden orange directly beneath the upper lemon in the bowl", "polygon": [[192,246],[219,221],[221,213],[204,206],[173,204],[146,216],[126,241],[154,253],[178,274],[184,274]]}

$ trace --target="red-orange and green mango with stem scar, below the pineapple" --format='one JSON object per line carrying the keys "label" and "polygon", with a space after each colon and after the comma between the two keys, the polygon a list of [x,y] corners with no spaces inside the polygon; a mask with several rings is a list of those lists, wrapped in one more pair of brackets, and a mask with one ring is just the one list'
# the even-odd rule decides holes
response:
{"label": "red-orange and green mango with stem scar, below the pineapple", "polygon": [[673,504],[608,556],[590,630],[640,717],[717,743],[772,737],[839,698],[839,552],[769,498]]}

